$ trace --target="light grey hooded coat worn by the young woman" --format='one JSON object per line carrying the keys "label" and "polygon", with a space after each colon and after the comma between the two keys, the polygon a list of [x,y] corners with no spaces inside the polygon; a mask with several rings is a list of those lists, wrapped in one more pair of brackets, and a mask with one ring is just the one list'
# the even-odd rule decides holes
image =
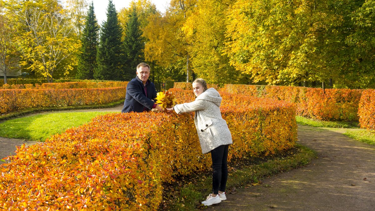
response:
{"label": "light grey hooded coat worn by the young woman", "polygon": [[202,153],[221,145],[232,144],[232,136],[220,112],[221,96],[214,88],[205,90],[195,101],[174,106],[176,113],[194,112],[195,127]]}

